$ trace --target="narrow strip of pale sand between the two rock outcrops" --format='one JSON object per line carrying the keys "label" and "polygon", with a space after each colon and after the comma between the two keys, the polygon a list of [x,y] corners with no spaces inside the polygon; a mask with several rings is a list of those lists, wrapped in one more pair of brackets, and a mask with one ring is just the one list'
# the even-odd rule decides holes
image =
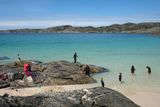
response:
{"label": "narrow strip of pale sand between the two rock outcrops", "polygon": [[31,88],[22,88],[22,89],[11,89],[4,88],[0,89],[0,95],[8,93],[11,96],[31,96],[38,93],[45,92],[63,92],[69,90],[76,90],[82,88],[91,88],[92,85],[61,85],[61,86],[43,86],[43,87],[31,87]]}

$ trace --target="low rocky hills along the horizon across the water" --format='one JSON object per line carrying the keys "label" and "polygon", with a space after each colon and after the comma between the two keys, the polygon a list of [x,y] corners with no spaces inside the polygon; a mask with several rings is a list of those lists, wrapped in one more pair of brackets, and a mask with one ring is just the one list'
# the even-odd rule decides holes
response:
{"label": "low rocky hills along the horizon across the water", "polygon": [[14,30],[0,30],[4,33],[150,33],[160,35],[160,22],[146,22],[146,23],[125,23],[113,24],[110,26],[101,27],[77,27],[71,25],[63,25],[57,27],[50,27],[45,29],[14,29]]}

